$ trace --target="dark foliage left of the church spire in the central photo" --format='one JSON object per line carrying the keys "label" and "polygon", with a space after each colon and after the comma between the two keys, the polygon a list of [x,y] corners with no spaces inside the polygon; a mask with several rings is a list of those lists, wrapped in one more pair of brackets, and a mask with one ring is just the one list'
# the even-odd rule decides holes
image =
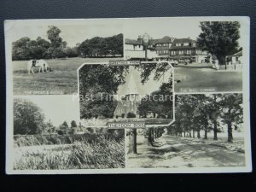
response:
{"label": "dark foliage left of the church spire in the central photo", "polygon": [[86,65],[79,70],[81,118],[102,115],[113,118],[117,101],[113,99],[118,86],[125,83],[128,67]]}

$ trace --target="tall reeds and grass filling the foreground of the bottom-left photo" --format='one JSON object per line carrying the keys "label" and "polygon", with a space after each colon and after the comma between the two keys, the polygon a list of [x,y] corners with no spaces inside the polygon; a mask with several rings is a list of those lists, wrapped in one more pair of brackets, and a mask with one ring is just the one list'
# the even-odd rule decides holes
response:
{"label": "tall reeds and grass filling the foreground of the bottom-left photo", "polygon": [[94,141],[19,147],[14,158],[15,170],[122,168],[125,141],[99,136]]}

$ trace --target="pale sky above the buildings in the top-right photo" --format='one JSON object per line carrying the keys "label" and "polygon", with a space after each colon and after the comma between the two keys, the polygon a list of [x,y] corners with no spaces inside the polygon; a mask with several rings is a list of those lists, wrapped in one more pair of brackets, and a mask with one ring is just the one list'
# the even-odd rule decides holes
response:
{"label": "pale sky above the buildings in the top-right photo", "polygon": [[[172,17],[172,18],[135,18],[126,20],[124,25],[125,38],[137,39],[138,35],[148,33],[150,38],[191,38],[196,40],[201,33],[201,21],[239,20],[234,17]],[[241,25],[243,23],[241,22]],[[243,28],[241,26],[241,28]],[[240,32],[241,36],[244,34]],[[240,46],[243,42],[238,40]]]}

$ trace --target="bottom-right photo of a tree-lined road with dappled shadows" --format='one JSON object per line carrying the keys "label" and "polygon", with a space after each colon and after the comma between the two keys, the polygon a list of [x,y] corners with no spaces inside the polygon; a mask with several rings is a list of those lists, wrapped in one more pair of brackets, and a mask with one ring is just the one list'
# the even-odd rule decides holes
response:
{"label": "bottom-right photo of a tree-lined road with dappled shadows", "polygon": [[176,95],[175,122],[126,131],[126,167],[190,169],[246,166],[247,127],[241,93]]}

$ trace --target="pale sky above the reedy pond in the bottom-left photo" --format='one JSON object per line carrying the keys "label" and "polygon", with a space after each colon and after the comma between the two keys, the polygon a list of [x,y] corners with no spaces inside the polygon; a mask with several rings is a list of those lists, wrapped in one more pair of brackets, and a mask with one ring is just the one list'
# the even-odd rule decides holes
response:
{"label": "pale sky above the reedy pond in the bottom-left photo", "polygon": [[79,125],[79,100],[73,96],[16,96],[35,103],[45,115],[45,121],[54,126],[61,125],[65,120],[70,126],[72,120]]}

